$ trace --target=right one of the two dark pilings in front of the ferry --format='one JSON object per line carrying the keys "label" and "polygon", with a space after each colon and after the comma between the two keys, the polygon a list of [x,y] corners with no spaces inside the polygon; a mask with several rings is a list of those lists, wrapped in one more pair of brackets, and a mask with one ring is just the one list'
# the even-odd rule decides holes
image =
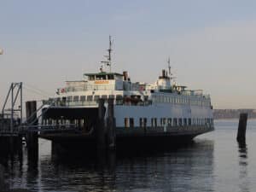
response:
{"label": "right one of the two dark pilings in front of the ferry", "polygon": [[115,146],[116,146],[113,98],[108,99],[107,145],[108,145],[108,149],[115,149]]}

